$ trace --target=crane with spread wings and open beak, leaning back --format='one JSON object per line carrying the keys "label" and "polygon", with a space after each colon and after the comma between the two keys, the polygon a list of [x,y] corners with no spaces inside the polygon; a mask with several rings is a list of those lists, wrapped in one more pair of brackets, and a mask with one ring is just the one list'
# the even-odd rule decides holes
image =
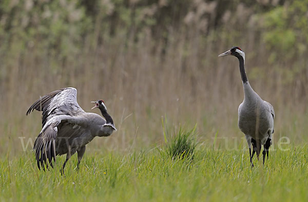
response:
{"label": "crane with spread wings and open beak, leaning back", "polygon": [[[53,168],[56,155],[66,154],[67,161],[76,151],[78,154],[77,170],[85,153],[86,144],[94,137],[107,137],[117,130],[103,100],[95,101],[93,108],[99,108],[103,117],[86,113],[77,103],[77,90],[73,87],[62,88],[38,99],[30,106],[26,115],[34,109],[43,111],[42,130],[38,134],[33,151],[38,169]],[[93,109],[92,108],[92,109]]]}

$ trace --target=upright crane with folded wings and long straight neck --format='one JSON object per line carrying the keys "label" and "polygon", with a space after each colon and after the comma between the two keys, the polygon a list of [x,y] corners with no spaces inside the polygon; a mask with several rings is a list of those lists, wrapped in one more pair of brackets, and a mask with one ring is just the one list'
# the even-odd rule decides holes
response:
{"label": "upright crane with folded wings and long straight neck", "polygon": [[[239,47],[220,54],[218,57],[233,55],[238,58],[240,63],[240,73],[244,88],[244,101],[240,104],[238,113],[238,126],[245,134],[248,147],[251,166],[253,167],[253,156],[261,151],[263,145],[263,165],[265,161],[265,153],[268,159],[268,149],[272,145],[272,134],[274,133],[274,117],[275,112],[273,106],[262,100],[260,96],[253,90],[248,82],[245,72],[245,53]],[[253,152],[252,152],[253,149]]]}

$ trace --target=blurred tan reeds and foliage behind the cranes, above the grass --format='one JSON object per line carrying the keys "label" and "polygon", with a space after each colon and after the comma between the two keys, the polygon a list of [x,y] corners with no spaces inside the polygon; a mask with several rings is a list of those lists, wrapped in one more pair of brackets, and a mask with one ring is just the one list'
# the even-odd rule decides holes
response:
{"label": "blurred tan reeds and foliage behind the cranes, above the grass", "polygon": [[[198,123],[199,138],[237,138],[243,99],[238,62],[276,111],[275,137],[307,140],[308,1],[76,1],[0,3],[0,151],[35,138],[34,100],[78,88],[87,111],[104,99],[119,131],[95,140],[109,150],[163,143],[169,126]],[[98,111],[95,111],[98,113]]]}

